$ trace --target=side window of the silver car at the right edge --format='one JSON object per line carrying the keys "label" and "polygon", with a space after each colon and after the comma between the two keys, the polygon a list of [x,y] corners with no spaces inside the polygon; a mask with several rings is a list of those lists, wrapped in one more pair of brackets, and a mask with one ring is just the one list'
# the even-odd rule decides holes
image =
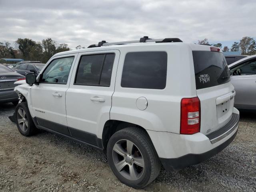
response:
{"label": "side window of the silver car at the right edge", "polygon": [[256,59],[243,62],[235,66],[230,71],[233,75],[255,75],[256,74]]}

